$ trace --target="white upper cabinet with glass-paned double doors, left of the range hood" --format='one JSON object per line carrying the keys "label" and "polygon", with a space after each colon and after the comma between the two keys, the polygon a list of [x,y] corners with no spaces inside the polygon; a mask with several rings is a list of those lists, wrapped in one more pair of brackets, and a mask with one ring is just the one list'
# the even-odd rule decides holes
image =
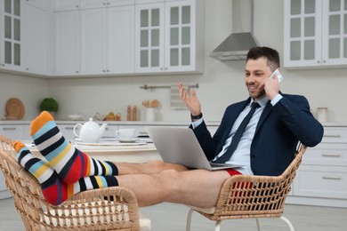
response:
{"label": "white upper cabinet with glass-paned double doors, left of the range hood", "polygon": [[135,72],[201,72],[204,4],[194,0],[136,4]]}

